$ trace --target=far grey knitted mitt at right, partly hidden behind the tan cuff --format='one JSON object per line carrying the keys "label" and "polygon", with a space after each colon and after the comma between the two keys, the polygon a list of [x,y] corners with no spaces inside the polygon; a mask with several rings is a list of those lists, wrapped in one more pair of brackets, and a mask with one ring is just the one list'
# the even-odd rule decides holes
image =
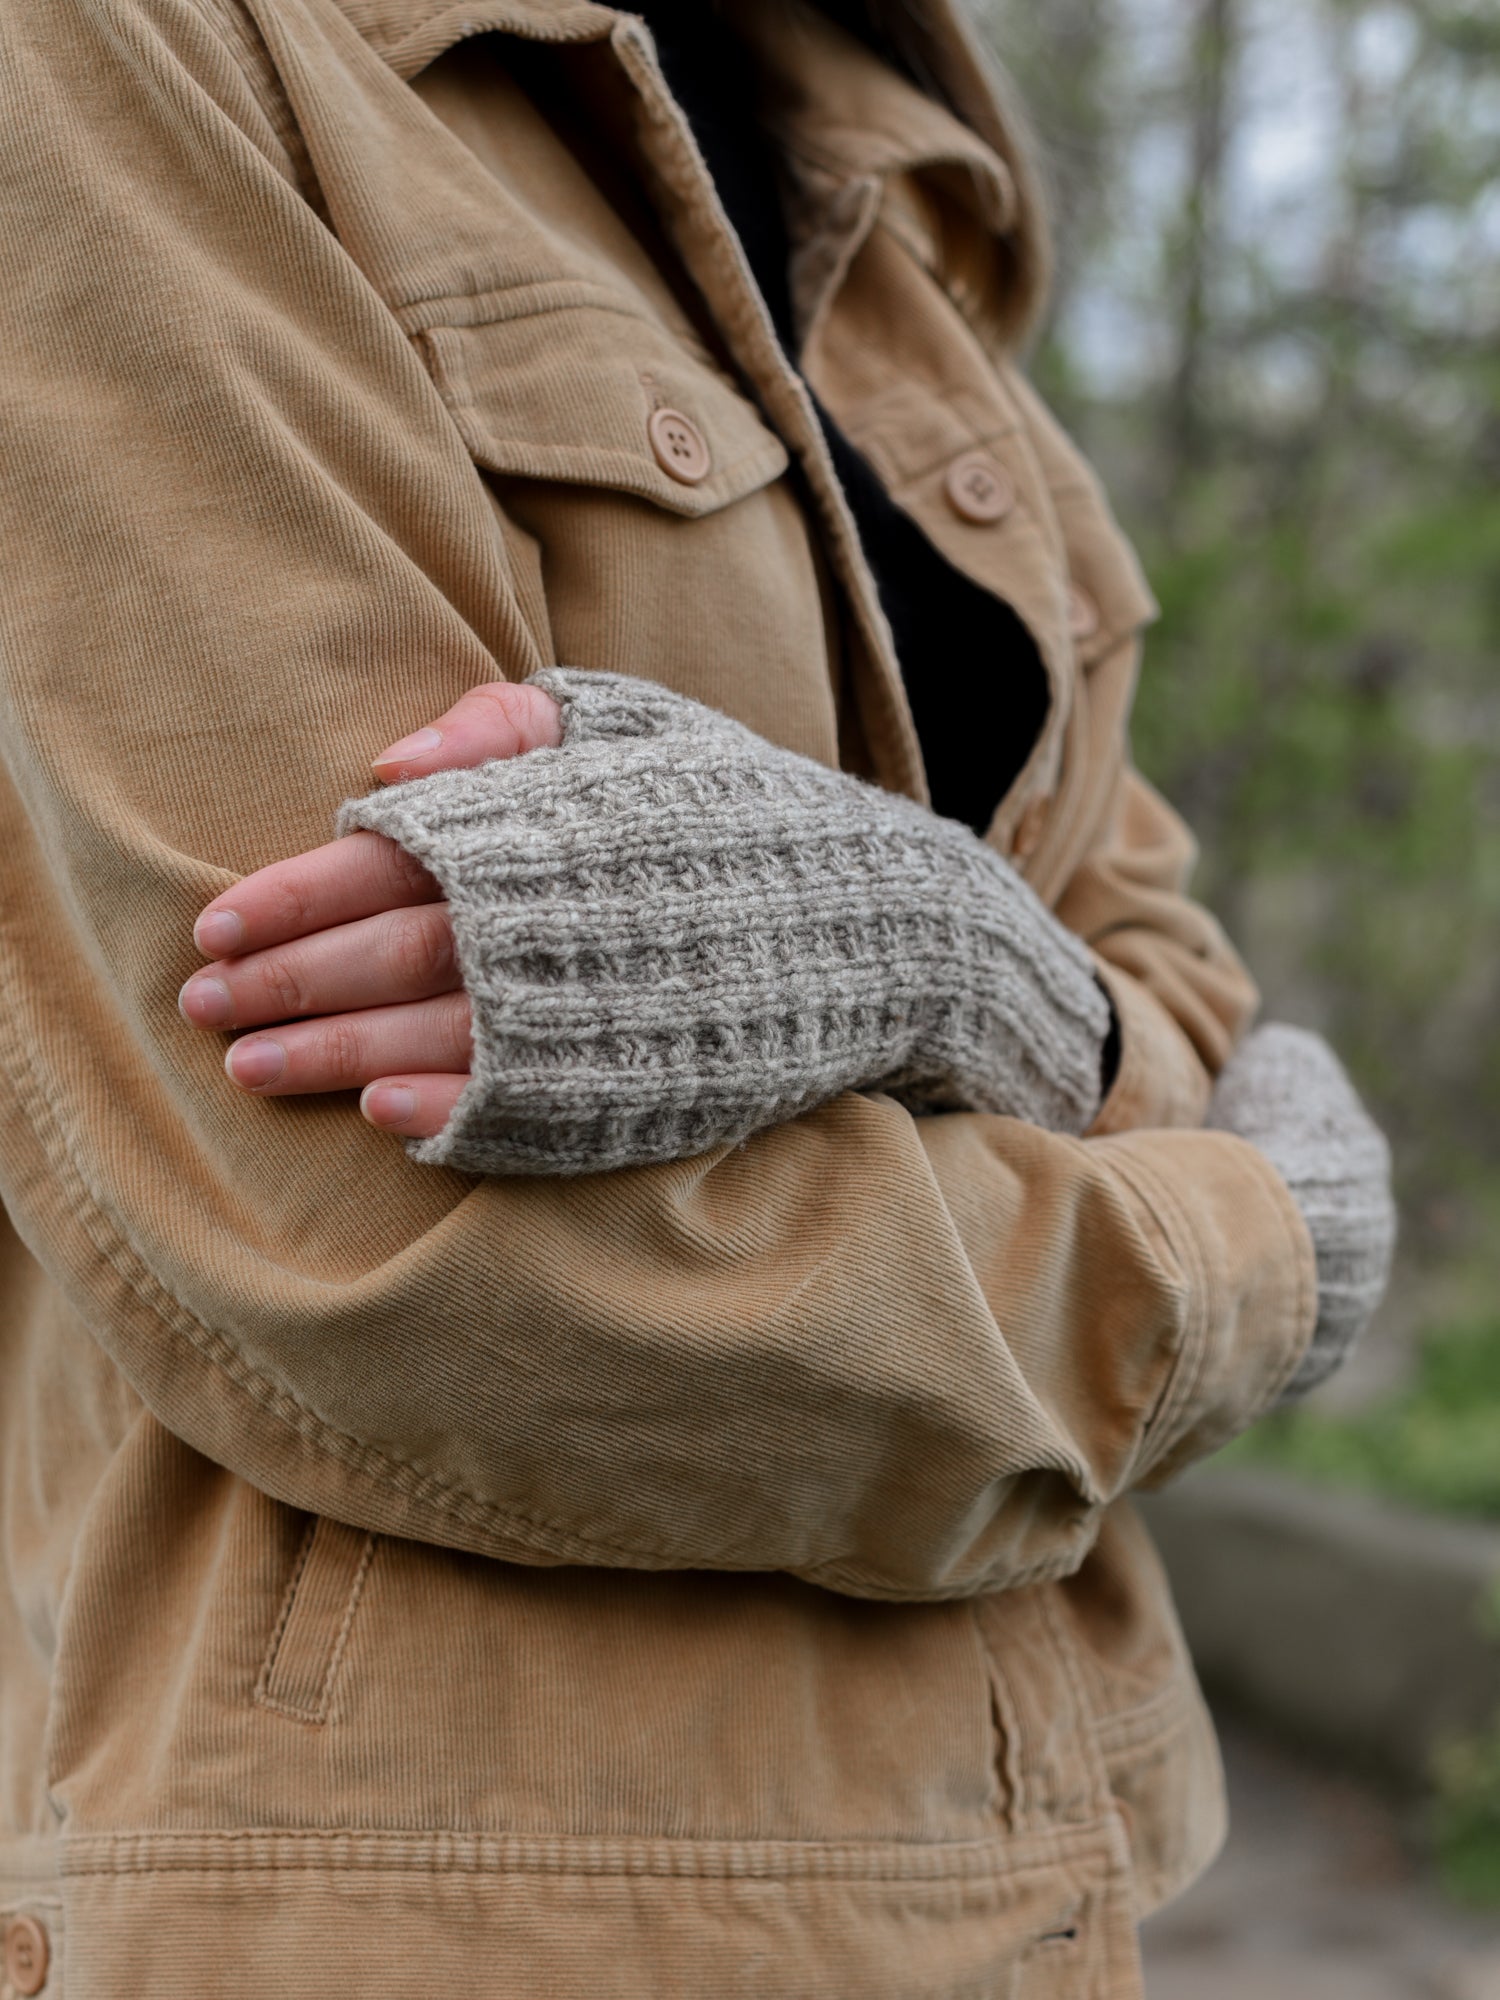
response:
{"label": "far grey knitted mitt at right, partly hidden behind the tan cuff", "polygon": [[1266,1154],[1302,1210],[1318,1258],[1318,1326],[1282,1402],[1346,1358],[1390,1276],[1396,1204],[1390,1148],[1338,1056],[1306,1028],[1258,1028],[1230,1058],[1208,1124]]}

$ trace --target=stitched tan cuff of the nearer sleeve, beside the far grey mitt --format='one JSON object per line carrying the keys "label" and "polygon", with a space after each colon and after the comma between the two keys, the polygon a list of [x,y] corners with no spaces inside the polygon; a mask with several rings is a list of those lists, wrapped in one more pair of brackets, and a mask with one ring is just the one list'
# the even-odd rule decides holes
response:
{"label": "stitched tan cuff of the nearer sleeve, beside the far grey mitt", "polygon": [[1312,1236],[1262,1152],[1228,1132],[1100,1140],[1182,1278],[1178,1350],[1132,1486],[1158,1486],[1248,1430],[1296,1374],[1318,1320]]}

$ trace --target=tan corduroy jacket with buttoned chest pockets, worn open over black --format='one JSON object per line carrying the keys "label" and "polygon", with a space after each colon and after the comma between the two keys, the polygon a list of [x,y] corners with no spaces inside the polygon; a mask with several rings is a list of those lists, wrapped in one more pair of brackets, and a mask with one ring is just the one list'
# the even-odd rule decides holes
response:
{"label": "tan corduroy jacket with buttoned chest pockets, worn open over black", "polygon": [[[1312,1254],[1194,1130],[1252,992],[1128,768],[1150,600],[1016,372],[1036,222],[942,0],[930,96],[736,12],[806,374],[1040,648],[990,838],[1098,952],[1118,1082],[1086,1140],[850,1094],[570,1182],[232,1092],[194,914],[472,682],[920,758],[640,22],[6,8],[8,1994],[1116,2000],[1218,1840],[1122,1496],[1276,1394]],[[952,684],[998,734],[998,662]]]}

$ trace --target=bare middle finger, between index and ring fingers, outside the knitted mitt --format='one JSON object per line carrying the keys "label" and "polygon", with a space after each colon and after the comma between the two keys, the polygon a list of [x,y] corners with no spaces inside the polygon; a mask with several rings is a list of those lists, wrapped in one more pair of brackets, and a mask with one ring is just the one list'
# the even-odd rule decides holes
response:
{"label": "bare middle finger, between index and ring fingers, outside the knitted mitt", "polygon": [[384,910],[248,958],[220,958],[178,994],[194,1028],[258,1028],[304,1014],[428,1000],[462,984],[446,902]]}

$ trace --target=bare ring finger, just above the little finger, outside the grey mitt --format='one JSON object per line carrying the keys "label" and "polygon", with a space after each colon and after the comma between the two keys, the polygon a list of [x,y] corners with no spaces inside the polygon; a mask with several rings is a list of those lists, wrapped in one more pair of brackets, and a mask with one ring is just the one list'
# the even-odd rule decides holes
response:
{"label": "bare ring finger, just above the little finger, outside the grey mitt", "polygon": [[378,1076],[468,1070],[468,994],[372,1006],[362,1014],[294,1020],[274,1034],[246,1034],[230,1044],[224,1070],[256,1098],[292,1098],[316,1090],[362,1090]]}

